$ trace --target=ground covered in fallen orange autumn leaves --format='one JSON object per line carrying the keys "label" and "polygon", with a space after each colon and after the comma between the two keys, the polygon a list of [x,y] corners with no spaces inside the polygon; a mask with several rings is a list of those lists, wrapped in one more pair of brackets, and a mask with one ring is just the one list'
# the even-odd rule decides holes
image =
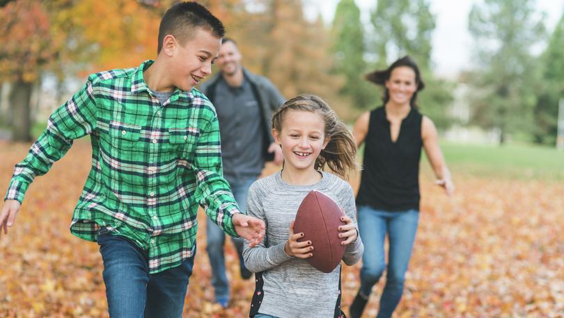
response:
{"label": "ground covered in fallen orange autumn leaves", "polygon": [[[0,149],[4,191],[29,145],[0,142]],[[90,144],[79,141],[36,178],[15,226],[1,236],[0,317],[107,317],[98,246],[68,230],[90,156]],[[453,172],[453,199],[429,174],[421,178],[420,226],[396,317],[563,317],[564,185]],[[246,317],[254,285],[240,278],[230,244],[233,301],[227,310],[212,303],[204,238],[201,226],[185,316]],[[343,271],[345,310],[359,287],[359,269]],[[375,317],[383,283],[365,317]]]}

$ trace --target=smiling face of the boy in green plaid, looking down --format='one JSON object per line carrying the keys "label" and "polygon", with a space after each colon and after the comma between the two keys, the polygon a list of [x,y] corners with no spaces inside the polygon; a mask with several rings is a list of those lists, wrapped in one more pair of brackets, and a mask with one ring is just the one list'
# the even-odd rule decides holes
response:
{"label": "smiling face of the boy in green plaid, looking down", "polygon": [[[167,39],[167,37],[169,37]],[[192,87],[212,74],[212,64],[221,47],[221,37],[205,28],[198,28],[194,37],[180,43],[172,35],[164,40],[164,50],[171,56],[169,76],[171,83],[180,90],[189,92]]]}

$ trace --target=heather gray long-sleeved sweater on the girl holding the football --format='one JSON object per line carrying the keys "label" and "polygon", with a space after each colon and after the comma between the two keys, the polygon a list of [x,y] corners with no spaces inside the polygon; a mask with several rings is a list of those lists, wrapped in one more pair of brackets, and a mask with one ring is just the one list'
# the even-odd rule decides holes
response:
{"label": "heather gray long-sleeved sweater on the girl holding the football", "polygon": [[[244,245],[245,266],[258,273],[251,313],[258,306],[255,312],[281,318],[334,317],[339,296],[340,265],[325,274],[306,260],[292,258],[284,252],[290,222],[295,219],[299,204],[311,190],[330,196],[357,223],[350,185],[334,174],[322,174],[322,179],[313,185],[288,185],[282,180],[280,172],[251,185],[246,210],[266,224],[263,242],[252,248],[249,248],[248,241]],[[353,265],[361,259],[363,251],[364,246],[358,237],[347,245],[343,261]],[[257,294],[263,298],[257,298]]]}

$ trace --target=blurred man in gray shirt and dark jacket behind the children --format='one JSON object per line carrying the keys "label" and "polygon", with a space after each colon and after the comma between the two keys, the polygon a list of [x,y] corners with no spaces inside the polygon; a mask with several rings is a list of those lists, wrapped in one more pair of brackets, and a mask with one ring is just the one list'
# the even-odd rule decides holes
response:
{"label": "blurred man in gray shirt and dark jacket behind the children", "polygon": [[[219,119],[221,156],[224,178],[228,181],[239,208],[245,210],[246,194],[251,183],[263,170],[265,161],[282,162],[282,151],[274,143],[270,128],[272,113],[284,103],[274,85],[265,77],[251,74],[241,65],[241,53],[235,41],[224,38],[217,65],[221,73],[203,83],[201,91],[214,104]],[[274,158],[272,158],[274,156]],[[207,255],[212,265],[212,285],[215,300],[222,307],[229,303],[229,283],[226,276],[225,234],[214,222],[207,220]],[[243,242],[233,238],[239,254],[242,278],[251,277],[244,267]]]}

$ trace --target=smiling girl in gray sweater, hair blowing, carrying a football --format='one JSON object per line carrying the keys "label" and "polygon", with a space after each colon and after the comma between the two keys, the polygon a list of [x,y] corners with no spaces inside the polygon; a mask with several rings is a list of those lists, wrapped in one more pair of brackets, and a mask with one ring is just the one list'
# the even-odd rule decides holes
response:
{"label": "smiling girl in gray sweater, hair blowing, carrying a football", "polygon": [[363,245],[354,221],[354,194],[350,185],[322,171],[328,165],[339,176],[357,167],[354,144],[347,126],[315,95],[302,94],[286,101],[272,118],[272,135],[283,153],[283,169],[262,178],[249,190],[247,211],[267,224],[263,243],[245,241],[246,267],[256,273],[250,317],[344,317],[340,310],[340,265],[329,274],[313,268],[311,242],[298,242],[294,233],[299,204],[311,190],[331,196],[346,211],[340,237],[347,245],[343,260],[358,262]]}

